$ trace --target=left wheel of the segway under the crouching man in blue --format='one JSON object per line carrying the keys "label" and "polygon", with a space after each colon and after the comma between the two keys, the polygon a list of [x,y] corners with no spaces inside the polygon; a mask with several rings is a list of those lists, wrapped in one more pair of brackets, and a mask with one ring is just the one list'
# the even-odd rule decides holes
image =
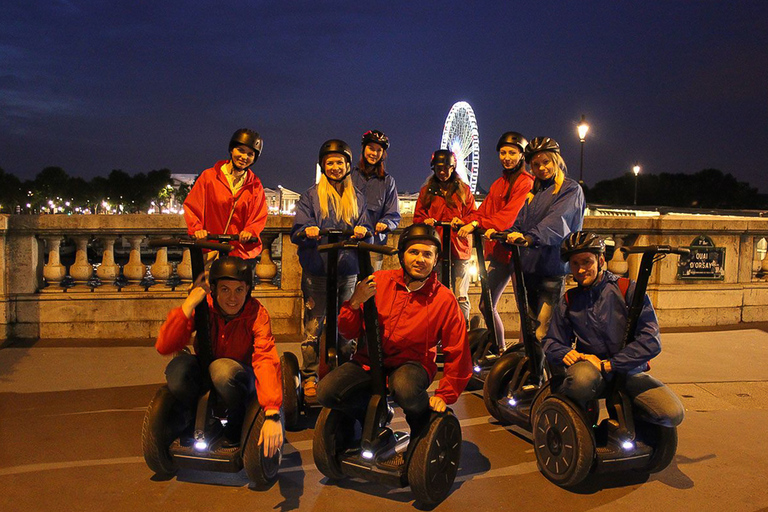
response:
{"label": "left wheel of the segway under the crouching man in blue", "polygon": [[533,414],[533,448],[539,470],[560,487],[573,487],[589,474],[595,460],[592,435],[574,410],[550,396]]}

